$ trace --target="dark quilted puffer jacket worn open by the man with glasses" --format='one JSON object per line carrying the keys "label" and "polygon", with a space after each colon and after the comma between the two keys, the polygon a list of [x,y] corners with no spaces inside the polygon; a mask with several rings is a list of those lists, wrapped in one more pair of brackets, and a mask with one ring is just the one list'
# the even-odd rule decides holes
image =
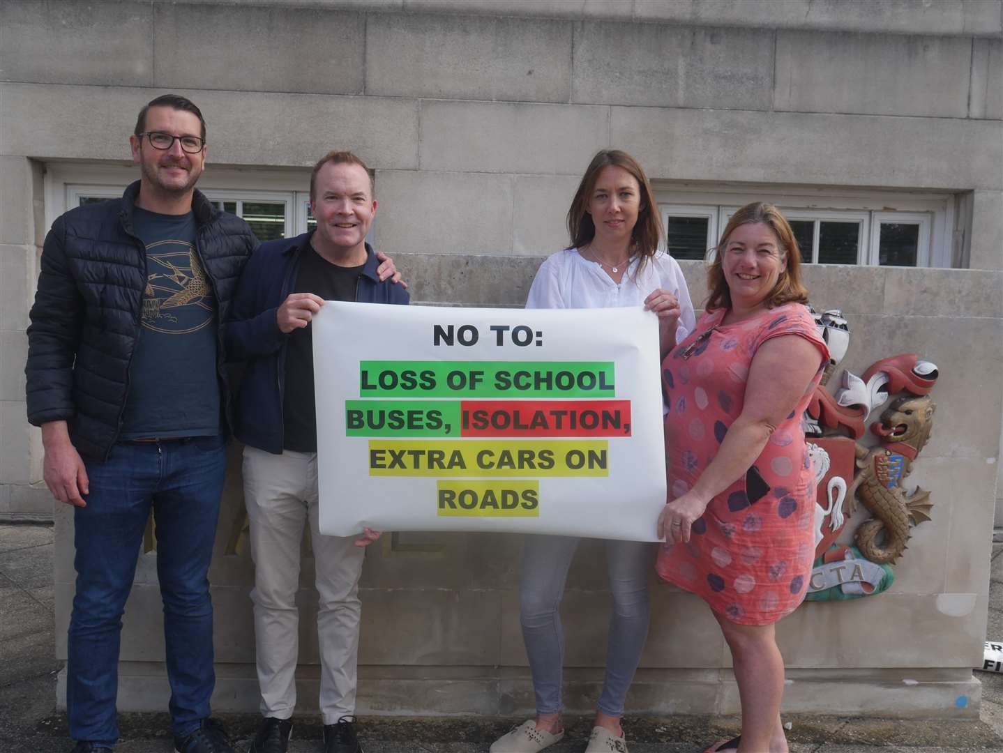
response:
{"label": "dark quilted puffer jacket worn open by the man with glasses", "polygon": [[[65,420],[77,451],[107,458],[118,437],[129,362],[139,337],[146,285],[145,247],[132,232],[139,181],[121,199],[62,215],[45,237],[28,327],[28,420]],[[200,192],[192,204],[196,250],[219,306],[218,371],[229,425],[223,322],[237,281],[258,242],[247,223],[220,212]]]}

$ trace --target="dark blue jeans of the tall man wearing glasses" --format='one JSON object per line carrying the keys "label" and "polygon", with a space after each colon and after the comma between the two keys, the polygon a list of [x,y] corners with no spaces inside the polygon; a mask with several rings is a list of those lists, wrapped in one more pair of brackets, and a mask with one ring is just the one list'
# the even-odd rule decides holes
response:
{"label": "dark blue jeans of the tall man wearing glasses", "polygon": [[66,710],[74,740],[118,739],[115,697],[121,617],[150,508],[171,721],[185,736],[209,716],[213,605],[209,562],[227,469],[222,436],[121,442],[107,462],[87,462],[90,493],[74,511],[76,595],[69,625]]}

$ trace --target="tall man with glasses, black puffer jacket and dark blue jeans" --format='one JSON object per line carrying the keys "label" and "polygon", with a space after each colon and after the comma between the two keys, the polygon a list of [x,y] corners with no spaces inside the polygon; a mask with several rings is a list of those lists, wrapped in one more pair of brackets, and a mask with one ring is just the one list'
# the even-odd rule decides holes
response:
{"label": "tall man with glasses, black puffer jacket and dark blue jeans", "polygon": [[195,190],[206,121],[156,97],[129,137],[139,179],[45,239],[28,328],[28,419],[45,482],[74,505],[66,705],[74,753],[110,751],[121,617],[153,511],[178,753],[232,753],[210,719],[209,572],[232,425],[223,322],[257,246]]}

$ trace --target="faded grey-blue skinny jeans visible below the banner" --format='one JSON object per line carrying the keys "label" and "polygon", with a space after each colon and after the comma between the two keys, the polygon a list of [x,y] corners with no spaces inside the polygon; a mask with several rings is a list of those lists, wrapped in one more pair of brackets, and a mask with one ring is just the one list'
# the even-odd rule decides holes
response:
{"label": "faded grey-blue skinny jeans visible below the banner", "polygon": [[[578,542],[572,536],[528,535],[523,548],[520,621],[533,672],[538,714],[561,711],[564,631],[559,609]],[[613,614],[599,710],[621,716],[648,637],[648,574],[654,562],[655,547],[645,541],[605,543]]]}

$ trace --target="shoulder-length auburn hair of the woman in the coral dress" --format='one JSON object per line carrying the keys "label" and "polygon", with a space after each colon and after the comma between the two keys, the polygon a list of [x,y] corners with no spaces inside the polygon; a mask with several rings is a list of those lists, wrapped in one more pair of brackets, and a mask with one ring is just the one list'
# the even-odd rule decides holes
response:
{"label": "shoulder-length auburn hair of the woman in the coral dress", "polygon": [[790,230],[790,225],[776,207],[764,202],[753,202],[745,205],[731,216],[721,234],[720,243],[713,249],[714,260],[707,272],[707,289],[710,291],[710,297],[704,306],[708,311],[731,308],[731,292],[728,290],[724,271],[721,269],[724,247],[735,228],[740,225],[755,225],[757,223],[769,226],[780,243],[780,258],[786,257],[787,260],[786,269],[780,273],[776,285],[765,298],[766,308],[773,309],[785,303],[806,304],[808,302],[808,291],[801,282],[801,254],[797,249],[794,232]]}

